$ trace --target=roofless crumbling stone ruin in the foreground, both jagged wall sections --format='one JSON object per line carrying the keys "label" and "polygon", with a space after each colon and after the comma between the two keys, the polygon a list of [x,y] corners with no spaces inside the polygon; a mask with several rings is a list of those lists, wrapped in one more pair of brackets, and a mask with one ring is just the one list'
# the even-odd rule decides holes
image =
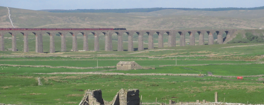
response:
{"label": "roofless crumbling stone ruin in the foreground, both jagged wall sections", "polygon": [[102,91],[86,90],[79,105],[140,105],[138,89],[121,89],[111,102],[102,98]]}

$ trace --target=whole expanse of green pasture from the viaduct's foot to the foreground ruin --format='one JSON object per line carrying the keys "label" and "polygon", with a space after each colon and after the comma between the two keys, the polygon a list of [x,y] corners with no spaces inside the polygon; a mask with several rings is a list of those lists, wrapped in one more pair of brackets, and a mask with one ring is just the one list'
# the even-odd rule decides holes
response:
{"label": "whole expanse of green pasture from the viaduct's foot to the foreground ruin", "polygon": [[[71,41],[69,41],[70,43]],[[28,105],[29,103],[31,105],[78,104],[84,94],[82,90],[87,89],[101,89],[103,98],[106,101],[112,101],[116,92],[121,88],[137,88],[140,90],[140,95],[142,95],[142,102],[148,103],[155,102],[156,97],[159,103],[168,103],[168,100],[196,102],[198,99],[214,102],[214,92],[218,92],[219,102],[223,102],[225,99],[225,102],[228,103],[246,104],[248,101],[251,104],[264,104],[264,100],[261,98],[264,93],[263,81],[256,81],[259,77],[244,77],[243,80],[237,80],[236,78],[210,76],[34,74],[97,71],[125,74],[207,75],[208,72],[211,72],[213,75],[221,76],[263,75],[263,64],[252,64],[263,62],[264,49],[262,44],[176,46],[151,51],[67,51],[54,54],[37,54],[34,50],[29,53],[0,51],[0,64],[96,67],[98,60],[98,66],[115,66],[119,61],[136,61],[141,66],[156,68],[120,71],[115,70],[116,68],[66,69],[0,66],[0,102],[20,105]],[[60,46],[57,46],[56,49],[59,48]],[[48,47],[45,49],[47,50]],[[71,49],[71,46],[67,46],[67,49]],[[177,66],[159,67],[160,65],[175,65],[175,57],[177,57]],[[199,66],[197,64],[209,65]],[[38,86],[38,77],[43,84],[41,86]],[[13,101],[14,97],[17,101]]]}

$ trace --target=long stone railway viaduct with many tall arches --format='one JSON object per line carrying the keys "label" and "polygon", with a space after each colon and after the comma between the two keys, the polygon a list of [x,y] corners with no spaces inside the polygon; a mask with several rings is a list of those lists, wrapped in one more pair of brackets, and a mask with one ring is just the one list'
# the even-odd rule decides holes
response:
{"label": "long stone railway viaduct with many tall arches", "polygon": [[147,33],[148,49],[153,49],[153,34],[158,34],[158,48],[163,48],[163,34],[168,35],[168,47],[175,46],[175,35],[180,34],[180,46],[185,46],[185,34],[190,35],[190,45],[195,45],[194,34],[199,34],[199,45],[204,45],[204,34],[209,35],[208,44],[214,43],[213,34],[217,33],[217,42],[223,44],[223,33],[226,33],[226,38],[229,38],[237,29],[220,29],[220,30],[1,30],[0,31],[0,51],[4,51],[4,37],[6,33],[12,35],[12,51],[16,51],[16,34],[22,33],[24,35],[24,52],[29,51],[28,35],[35,34],[36,39],[36,53],[43,53],[42,35],[47,33],[50,36],[50,53],[55,52],[54,35],[59,33],[61,36],[61,51],[66,51],[65,35],[70,33],[72,35],[72,49],[77,51],[77,34],[81,33],[84,36],[83,50],[88,51],[88,38],[87,35],[92,33],[94,35],[94,51],[99,51],[99,38],[98,35],[103,33],[105,35],[105,51],[112,51],[112,34],[118,35],[118,51],[123,51],[122,36],[124,33],[128,35],[128,51],[133,51],[133,34],[138,35],[138,50],[143,48],[143,34]]}

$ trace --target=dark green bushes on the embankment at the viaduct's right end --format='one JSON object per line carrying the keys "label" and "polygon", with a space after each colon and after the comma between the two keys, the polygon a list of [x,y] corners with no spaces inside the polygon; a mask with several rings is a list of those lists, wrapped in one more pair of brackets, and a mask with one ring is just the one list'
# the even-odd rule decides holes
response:
{"label": "dark green bushes on the embankment at the viaduct's right end", "polygon": [[227,43],[264,43],[264,35],[260,34],[260,36],[253,35],[252,33],[247,32],[246,38],[242,39],[233,39]]}

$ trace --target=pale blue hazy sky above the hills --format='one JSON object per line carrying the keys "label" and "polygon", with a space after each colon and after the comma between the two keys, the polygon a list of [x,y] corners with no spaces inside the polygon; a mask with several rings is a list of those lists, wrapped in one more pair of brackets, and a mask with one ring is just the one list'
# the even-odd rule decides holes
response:
{"label": "pale blue hazy sky above the hills", "polygon": [[261,7],[264,0],[0,0],[0,6],[41,9]]}

